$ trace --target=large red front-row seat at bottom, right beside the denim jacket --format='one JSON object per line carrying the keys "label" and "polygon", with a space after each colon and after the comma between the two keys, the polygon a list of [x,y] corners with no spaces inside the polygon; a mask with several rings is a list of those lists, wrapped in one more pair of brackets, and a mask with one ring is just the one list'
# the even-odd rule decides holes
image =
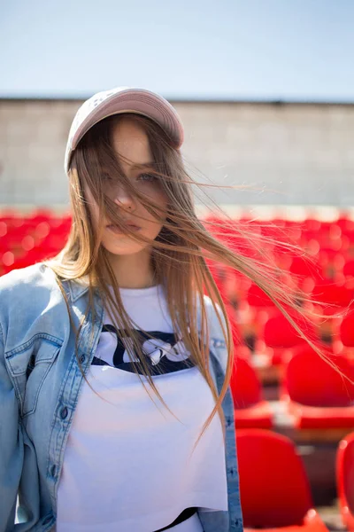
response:
{"label": "large red front-row seat at bottom, right beside the denim jacket", "polygon": [[262,429],[236,429],[236,440],[245,530],[327,531],[294,443]]}

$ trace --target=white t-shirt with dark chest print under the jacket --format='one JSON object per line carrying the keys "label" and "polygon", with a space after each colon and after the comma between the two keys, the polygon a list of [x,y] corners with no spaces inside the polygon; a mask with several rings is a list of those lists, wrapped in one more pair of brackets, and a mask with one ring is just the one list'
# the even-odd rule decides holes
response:
{"label": "white t-shirt with dark chest print under the jacket", "polygon": [[[100,396],[83,382],[58,485],[58,532],[154,532],[189,507],[227,510],[218,414],[189,456],[215,402],[173,334],[163,289],[121,288],[120,294],[129,317],[156,339],[142,335],[142,350],[177,419],[142,376],[153,403],[105,316],[87,374]],[[203,528],[195,513],[171,532]]]}

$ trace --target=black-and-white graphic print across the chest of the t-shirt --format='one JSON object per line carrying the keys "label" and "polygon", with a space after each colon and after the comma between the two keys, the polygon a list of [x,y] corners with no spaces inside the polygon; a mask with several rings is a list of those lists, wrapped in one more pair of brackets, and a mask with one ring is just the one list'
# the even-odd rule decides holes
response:
{"label": "black-and-white graphic print across the chest of the t-shirt", "polygon": [[[137,332],[151,375],[179,372],[194,367],[195,364],[189,359],[189,351],[173,332],[148,331],[153,336],[152,339],[141,330]],[[92,365],[111,365],[125,372],[135,372],[135,366],[142,375],[141,368],[135,364],[140,363],[139,356],[135,352],[135,360],[131,362],[127,350],[129,347],[133,347],[133,340],[128,336],[120,339],[114,325],[103,325],[97,346],[101,357],[94,356]]]}

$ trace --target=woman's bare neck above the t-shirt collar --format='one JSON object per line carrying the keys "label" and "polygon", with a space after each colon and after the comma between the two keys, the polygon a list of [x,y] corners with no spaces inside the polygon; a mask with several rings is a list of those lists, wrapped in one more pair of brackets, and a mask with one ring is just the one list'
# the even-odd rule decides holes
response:
{"label": "woman's bare neck above the t-shirt collar", "polygon": [[120,288],[147,288],[157,284],[150,249],[136,254],[111,254],[110,262]]}

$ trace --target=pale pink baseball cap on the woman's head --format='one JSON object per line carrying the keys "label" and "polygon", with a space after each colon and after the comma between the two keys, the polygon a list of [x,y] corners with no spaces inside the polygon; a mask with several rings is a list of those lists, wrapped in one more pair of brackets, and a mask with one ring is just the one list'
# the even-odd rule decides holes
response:
{"label": "pale pink baseball cap on the woman's head", "polygon": [[145,89],[116,87],[97,92],[86,100],[74,116],[65,150],[64,168],[67,173],[73,150],[81,138],[98,121],[120,113],[137,113],[156,121],[170,139],[173,148],[183,143],[183,125],[173,106],[157,94]]}

